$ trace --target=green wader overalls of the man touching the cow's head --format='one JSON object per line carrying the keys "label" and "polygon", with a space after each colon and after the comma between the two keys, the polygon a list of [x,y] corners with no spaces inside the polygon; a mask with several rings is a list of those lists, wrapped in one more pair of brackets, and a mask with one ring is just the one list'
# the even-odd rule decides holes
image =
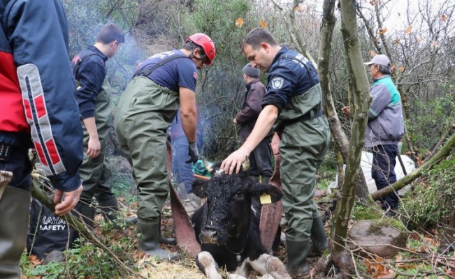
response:
{"label": "green wader overalls of the man touching the cow's head", "polygon": [[[294,96],[278,116],[277,124],[296,119],[307,112],[322,109],[319,84],[300,96]],[[310,112],[310,113],[312,113]],[[312,115],[312,114],[311,114]],[[316,171],[326,154],[330,130],[324,115],[286,126],[280,142],[282,204],[290,241],[310,239],[313,219],[321,216],[314,201]]]}

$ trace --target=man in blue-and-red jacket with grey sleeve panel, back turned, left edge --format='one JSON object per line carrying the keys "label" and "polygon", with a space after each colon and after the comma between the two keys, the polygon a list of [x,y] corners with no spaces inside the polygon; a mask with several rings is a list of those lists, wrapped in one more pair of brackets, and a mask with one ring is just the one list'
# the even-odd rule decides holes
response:
{"label": "man in blue-and-red jacket with grey sleeve panel, back turned, left edge", "polygon": [[[82,129],[59,0],[0,0],[0,278],[20,278],[34,146],[55,213],[78,204]],[[21,92],[22,91],[22,92]]]}

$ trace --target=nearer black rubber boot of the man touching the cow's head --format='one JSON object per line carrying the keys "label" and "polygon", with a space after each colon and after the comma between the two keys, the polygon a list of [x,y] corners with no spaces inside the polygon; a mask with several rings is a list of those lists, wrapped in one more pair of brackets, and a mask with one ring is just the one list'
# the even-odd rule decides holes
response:
{"label": "nearer black rubber boot of the man touching the cow's head", "polygon": [[310,266],[307,262],[310,252],[310,239],[305,241],[290,241],[287,237],[287,270],[296,278],[302,278],[310,273]]}

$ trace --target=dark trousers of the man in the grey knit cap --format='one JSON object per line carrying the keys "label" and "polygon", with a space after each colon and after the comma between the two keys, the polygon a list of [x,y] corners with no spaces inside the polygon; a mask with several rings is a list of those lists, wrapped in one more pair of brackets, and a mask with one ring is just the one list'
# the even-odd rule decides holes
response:
{"label": "dark trousers of the man in the grey knit cap", "polygon": [[272,176],[272,149],[271,137],[265,137],[258,146],[250,153],[250,176]]}

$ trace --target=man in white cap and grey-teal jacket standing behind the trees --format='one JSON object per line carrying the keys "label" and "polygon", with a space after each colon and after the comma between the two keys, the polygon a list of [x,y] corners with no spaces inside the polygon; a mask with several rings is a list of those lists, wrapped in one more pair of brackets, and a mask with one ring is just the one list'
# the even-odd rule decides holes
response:
{"label": "man in white cap and grey-teal jacket standing behind the trees", "polygon": [[[391,63],[387,56],[378,54],[369,62],[371,76],[370,93],[373,101],[368,110],[368,126],[365,133],[365,147],[373,152],[371,176],[377,190],[396,182],[395,165],[398,142],[403,137],[405,122],[401,111],[400,93],[390,77]],[[349,116],[349,107],[343,107]],[[392,193],[381,200],[382,209],[393,216],[398,209],[398,193]],[[390,211],[390,210],[391,211]]]}

